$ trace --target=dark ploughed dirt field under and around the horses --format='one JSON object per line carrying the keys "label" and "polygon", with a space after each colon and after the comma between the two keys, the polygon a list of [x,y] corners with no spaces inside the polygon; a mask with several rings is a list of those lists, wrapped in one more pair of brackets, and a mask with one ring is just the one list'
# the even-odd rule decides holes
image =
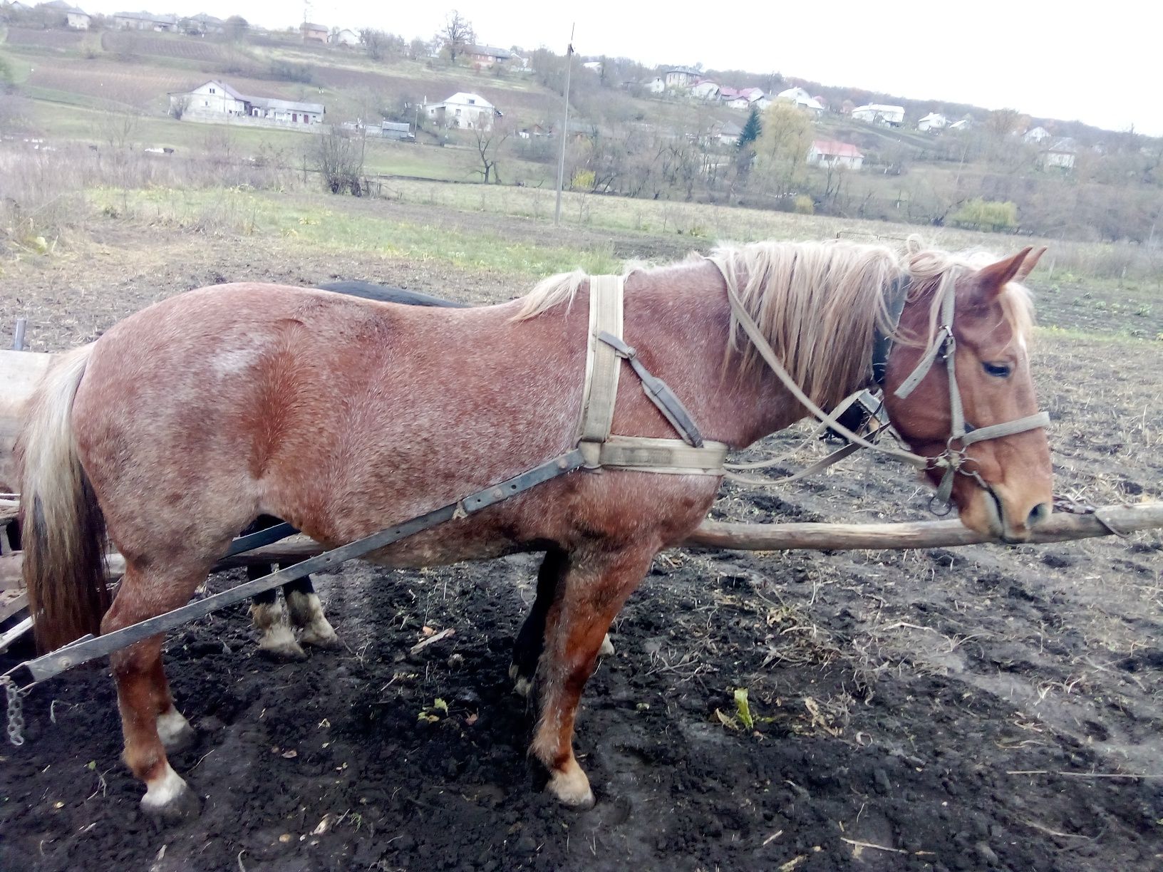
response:
{"label": "dark ploughed dirt field under and around the horses", "polygon": [[[545,244],[604,240],[627,257],[688,245],[441,220]],[[109,222],[84,256],[6,265],[0,324],[26,315],[34,345],[51,350],[229,279],[359,278],[476,301],[527,287],[438,260],[206,242]],[[1100,314],[1100,329],[1118,327]],[[1158,343],[1051,336],[1035,367],[1057,492],[1160,499]],[[927,495],[906,470],[857,456],[797,487],[725,486],[713,515],[912,520]],[[317,579],[343,650],[271,664],[243,608],[170,637],[178,703],[200,730],[174,760],[205,798],[184,827],[157,831],[140,815],[104,669],[38,687],[28,743],[0,751],[0,869],[1161,869],[1161,551],[1158,535],[1140,535],[663,555],[584,698],[577,749],[599,802],[583,814],[536,792],[531,719],[506,677],[534,559],[352,565]],[[424,628],[456,632],[409,655]]]}

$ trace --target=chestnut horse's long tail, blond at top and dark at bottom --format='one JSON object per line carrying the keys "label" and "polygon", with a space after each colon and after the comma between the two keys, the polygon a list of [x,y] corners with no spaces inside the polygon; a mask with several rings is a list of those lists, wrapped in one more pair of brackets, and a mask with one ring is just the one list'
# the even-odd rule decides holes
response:
{"label": "chestnut horse's long tail, blond at top and dark at bottom", "polygon": [[42,651],[97,635],[109,607],[105,516],[81,467],[72,421],[92,351],[77,349],[49,370],[16,441],[24,585]]}

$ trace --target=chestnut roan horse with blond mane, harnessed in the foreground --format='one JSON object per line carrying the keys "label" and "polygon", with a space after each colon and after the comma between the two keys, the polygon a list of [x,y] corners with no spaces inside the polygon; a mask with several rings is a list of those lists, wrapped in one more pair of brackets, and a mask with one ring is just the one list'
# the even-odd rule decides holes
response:
{"label": "chestnut roan horse with blond mane, harnessed in the foreground", "polygon": [[[615,363],[657,373],[705,444],[726,451],[870,384],[877,334],[887,330],[885,405],[911,457],[966,527],[1023,542],[1051,501],[1027,350],[1033,306],[1018,284],[1041,253],[993,260],[915,241],[900,251],[844,241],[719,246],[621,277],[625,341],[612,338],[625,357]],[[184,605],[259,514],[334,546],[580,452],[592,399],[584,376],[600,339],[584,303],[608,286],[575,272],[507,303],[437,309],[221,285],[158,302],[64,356],[20,436],[38,643],[56,648]],[[889,298],[901,288],[893,324]],[[676,416],[656,400],[623,378],[609,396],[607,433],[618,435],[608,443],[672,436]],[[530,758],[565,806],[594,803],[572,739],[601,639],[654,556],[704,519],[721,480],[721,464],[599,463],[372,555],[426,566],[547,553]],[[112,606],[102,535],[126,558]],[[166,749],[193,730],[160,652],[157,635],[113,653],[110,666],[142,809],[180,820],[200,801]]]}

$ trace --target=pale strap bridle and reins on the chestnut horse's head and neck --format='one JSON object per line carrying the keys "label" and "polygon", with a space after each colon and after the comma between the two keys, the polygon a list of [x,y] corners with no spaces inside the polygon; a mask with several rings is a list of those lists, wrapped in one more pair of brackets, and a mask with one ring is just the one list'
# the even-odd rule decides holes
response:
{"label": "pale strap bridle and reins on the chestnut horse's head and neck", "polygon": [[[852,429],[846,427],[840,422],[840,417],[843,413],[851,406],[851,400],[849,398],[844,402],[840,403],[830,414],[825,413],[816,403],[814,403],[804,392],[800,389],[799,385],[795,384],[794,379],[787,373],[783,364],[780,364],[775,349],[768,342],[763,331],[759,330],[758,326],[755,323],[751,315],[747,312],[743,303],[739,299],[739,293],[736,291],[737,283],[734,272],[727,267],[727,265],[719,258],[708,258],[715,266],[719,267],[719,272],[722,274],[725,283],[727,284],[727,299],[730,302],[732,314],[735,316],[736,323],[743,329],[748,338],[755,345],[759,356],[763,357],[768,366],[771,367],[772,372],[779,378],[784,384],[784,387],[792,394],[795,400],[800,402],[827,430],[839,434],[843,438],[848,439],[848,445],[841,451],[837,451],[826,458],[830,463],[841,459],[842,456],[851,453],[857,448],[868,448],[877,451],[882,455],[887,455],[901,463],[908,464],[921,471],[932,470],[943,470],[941,476],[941,481],[937,485],[936,493],[929,501],[929,508],[934,512],[937,509],[934,507],[944,507],[943,512],[939,514],[948,514],[952,507],[951,495],[952,495],[952,484],[954,477],[956,474],[968,476],[975,479],[983,489],[987,493],[993,494],[992,487],[989,483],[982,478],[980,473],[975,469],[966,469],[966,464],[972,460],[966,453],[969,445],[977,442],[985,442],[986,439],[997,439],[1003,436],[1012,436],[1018,433],[1025,433],[1027,430],[1035,430],[1041,427],[1046,427],[1050,422],[1050,416],[1046,412],[1037,412],[1033,415],[1027,415],[1025,417],[1019,417],[1013,421],[1005,421],[1003,423],[990,424],[989,427],[973,427],[965,421],[964,406],[961,399],[961,389],[957,386],[957,373],[956,373],[956,339],[952,333],[952,321],[956,308],[956,296],[955,286],[956,283],[946,283],[943,291],[943,296],[941,299],[941,324],[937,328],[933,339],[930,341],[928,348],[921,357],[913,372],[901,383],[900,387],[897,388],[894,395],[905,399],[907,398],[916,386],[925,379],[929,370],[936,364],[937,360],[944,363],[946,371],[949,374],[949,408],[950,408],[950,434],[946,442],[946,449],[936,457],[925,457],[921,455],[913,453],[912,451],[906,451],[899,448],[886,448],[876,444],[875,441],[870,441],[863,436],[857,435]],[[900,316],[905,308],[905,301],[908,294],[908,287],[912,283],[909,276],[905,274],[899,277],[893,281],[886,299],[886,308],[890,321],[890,330],[880,331],[878,329],[876,339],[873,341],[873,359],[871,366],[872,380],[876,385],[884,386],[884,377],[887,371],[889,355],[892,352],[893,346],[893,335],[900,324]],[[855,395],[854,395],[855,396]],[[955,443],[957,443],[955,445]],[[832,458],[835,458],[833,460]],[[775,462],[761,462],[755,464],[728,464],[728,469],[758,469],[761,466],[770,466],[778,463],[783,458],[777,458]],[[812,472],[823,469],[825,465],[830,465],[830,463],[820,462],[811,467]],[[729,478],[735,478],[744,480],[748,484],[772,484],[771,481],[756,480],[756,479],[743,479],[742,477],[728,472]],[[780,484],[792,480],[794,478],[802,477],[800,473],[795,476],[790,476],[784,479],[779,479]]]}

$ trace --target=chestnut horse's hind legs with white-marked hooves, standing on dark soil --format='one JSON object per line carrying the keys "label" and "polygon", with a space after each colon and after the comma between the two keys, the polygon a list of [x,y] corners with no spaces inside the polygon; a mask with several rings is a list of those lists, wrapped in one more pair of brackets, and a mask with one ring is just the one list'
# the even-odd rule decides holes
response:
{"label": "chestnut horse's hind legs with white-marked hooves, standing on dark soil", "polygon": [[[207,566],[163,576],[130,562],[101,632],[113,632],[190,601]],[[162,666],[163,636],[150,636],[109,656],[117,687],[126,764],[144,781],[142,810],[164,820],[195,815],[200,802],[166,757],[193,739],[193,729],[173,705]]]}

